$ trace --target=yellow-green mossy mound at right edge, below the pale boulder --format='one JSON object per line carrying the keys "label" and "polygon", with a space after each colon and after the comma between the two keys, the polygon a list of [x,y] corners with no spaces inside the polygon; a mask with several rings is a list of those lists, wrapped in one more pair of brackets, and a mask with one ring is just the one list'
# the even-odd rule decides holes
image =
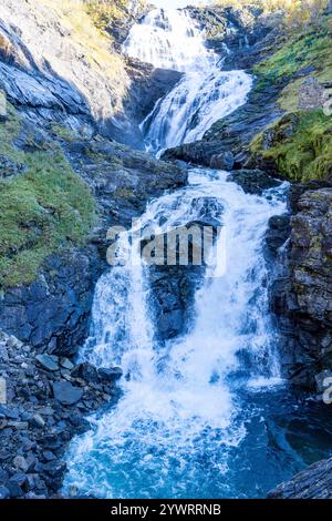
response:
{"label": "yellow-green mossy mound at right edge, below the pale boulder", "polygon": [[287,114],[251,143],[255,155],[289,181],[332,175],[332,119],[322,110]]}

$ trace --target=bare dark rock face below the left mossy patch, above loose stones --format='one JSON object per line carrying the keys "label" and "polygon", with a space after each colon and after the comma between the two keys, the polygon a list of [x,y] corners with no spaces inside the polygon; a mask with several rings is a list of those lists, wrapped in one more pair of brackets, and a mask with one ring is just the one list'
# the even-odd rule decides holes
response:
{"label": "bare dark rock face below the left mossy patch, above loose stones", "polygon": [[75,354],[89,333],[100,273],[94,248],[49,257],[33,284],[4,292],[1,327],[50,355]]}

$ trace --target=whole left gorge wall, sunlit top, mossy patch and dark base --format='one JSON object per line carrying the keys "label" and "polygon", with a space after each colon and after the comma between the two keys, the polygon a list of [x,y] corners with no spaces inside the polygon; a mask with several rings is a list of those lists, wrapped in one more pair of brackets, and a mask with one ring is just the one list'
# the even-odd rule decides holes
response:
{"label": "whole left gorge wall, sunlit top, mossy patch and dark base", "polygon": [[74,355],[107,228],[186,182],[108,140],[139,146],[137,122],[178,74],[126,61],[79,0],[4,0],[0,35],[0,327]]}

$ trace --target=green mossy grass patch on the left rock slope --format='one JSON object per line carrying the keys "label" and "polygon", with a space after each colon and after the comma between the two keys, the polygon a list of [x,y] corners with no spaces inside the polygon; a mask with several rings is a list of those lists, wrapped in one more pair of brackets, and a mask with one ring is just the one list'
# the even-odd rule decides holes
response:
{"label": "green mossy grass patch on the left rock slope", "polygon": [[0,180],[0,287],[28,284],[54,251],[84,244],[94,201],[55,145],[23,152],[13,141],[20,118],[9,105],[0,123],[0,154],[24,164],[25,172]]}

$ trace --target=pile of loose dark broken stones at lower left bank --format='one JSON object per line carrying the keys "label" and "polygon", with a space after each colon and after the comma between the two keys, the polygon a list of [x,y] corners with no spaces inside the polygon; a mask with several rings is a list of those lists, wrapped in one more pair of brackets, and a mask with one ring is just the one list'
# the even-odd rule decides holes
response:
{"label": "pile of loose dark broken stones at lower left bank", "polygon": [[121,372],[111,372],[37,357],[0,331],[0,499],[60,497],[70,440],[90,429],[85,416],[118,398]]}

